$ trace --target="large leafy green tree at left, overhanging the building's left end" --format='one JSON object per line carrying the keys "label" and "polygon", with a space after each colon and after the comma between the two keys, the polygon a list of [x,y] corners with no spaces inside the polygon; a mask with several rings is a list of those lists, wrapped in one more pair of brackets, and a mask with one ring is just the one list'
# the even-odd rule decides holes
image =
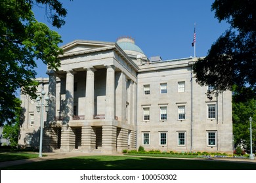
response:
{"label": "large leafy green tree at left, overhanging the building's left end", "polygon": [[59,1],[1,0],[0,1],[0,125],[12,122],[20,107],[15,92],[22,88],[35,98],[35,60],[57,69],[62,52],[60,35],[47,25],[37,22],[32,12],[34,5],[45,5],[53,26],[65,24],[66,9]]}

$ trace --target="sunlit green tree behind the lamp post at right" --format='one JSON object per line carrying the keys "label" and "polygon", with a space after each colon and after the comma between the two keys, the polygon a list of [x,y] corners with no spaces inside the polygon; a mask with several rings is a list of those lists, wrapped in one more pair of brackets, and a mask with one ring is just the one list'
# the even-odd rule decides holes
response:
{"label": "sunlit green tree behind the lamp post at right", "polygon": [[253,152],[256,152],[256,100],[236,101],[232,103],[232,117],[233,117],[233,134],[235,146],[244,146],[245,151],[249,153],[250,150],[250,136],[249,136],[249,117],[253,118],[252,122],[252,139]]}

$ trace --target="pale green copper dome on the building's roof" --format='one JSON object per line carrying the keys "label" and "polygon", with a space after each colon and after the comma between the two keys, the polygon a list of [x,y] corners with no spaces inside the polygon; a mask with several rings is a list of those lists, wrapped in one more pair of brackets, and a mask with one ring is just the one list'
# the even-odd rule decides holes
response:
{"label": "pale green copper dome on the building's roof", "polygon": [[120,48],[122,48],[122,50],[130,50],[130,51],[134,51],[134,52],[139,52],[144,54],[144,52],[140,49],[139,46],[137,46],[135,44],[134,39],[129,38],[129,37],[121,37],[117,40],[117,44],[118,46],[120,46]]}

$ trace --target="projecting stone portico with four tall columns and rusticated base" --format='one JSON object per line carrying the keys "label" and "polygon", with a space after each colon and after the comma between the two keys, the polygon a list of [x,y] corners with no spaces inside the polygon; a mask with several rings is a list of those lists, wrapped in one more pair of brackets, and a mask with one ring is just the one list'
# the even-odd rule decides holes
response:
{"label": "projecting stone portico with four tall columns and rusticated base", "polygon": [[[64,46],[64,54],[60,56],[62,66],[49,75],[55,90],[51,95],[57,99],[59,108],[55,107],[50,112],[48,121],[53,122],[49,124],[61,124],[60,150],[112,153],[135,146],[135,140],[128,139],[132,137],[128,131],[136,133],[135,116],[131,116],[135,114],[135,108],[127,110],[127,103],[135,101],[133,87],[137,65],[131,59],[122,57],[122,51],[115,45],[108,45],[111,48],[99,58],[95,54],[99,48],[95,52],[89,49],[88,53],[79,53],[79,43],[73,44],[75,54],[72,54],[70,44]],[[67,59],[69,61],[66,63]],[[61,80],[59,83],[56,82],[58,77]],[[134,143],[128,146],[128,141]]]}

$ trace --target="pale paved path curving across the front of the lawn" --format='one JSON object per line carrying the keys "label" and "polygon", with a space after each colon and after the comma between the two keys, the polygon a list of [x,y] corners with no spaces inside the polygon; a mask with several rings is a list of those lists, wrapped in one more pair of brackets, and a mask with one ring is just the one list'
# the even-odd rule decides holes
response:
{"label": "pale paved path curving across the front of the lawn", "polygon": [[[37,161],[47,161],[51,159],[63,159],[63,158],[72,158],[76,156],[123,156],[123,154],[86,154],[86,153],[81,153],[81,152],[66,152],[66,153],[60,153],[60,152],[51,152],[51,153],[43,153],[44,155],[41,158],[32,158],[32,159],[20,159],[16,161],[5,161],[5,162],[0,162],[0,168],[1,167],[9,167],[12,165],[21,165],[24,163],[32,163],[32,162],[37,162]],[[129,156],[127,156],[129,157]],[[146,156],[137,156],[137,157],[143,157],[145,158]],[[161,158],[161,157],[148,157],[148,158]],[[177,159],[177,158],[169,158],[169,159]],[[188,158],[179,158],[179,159],[188,159]],[[256,159],[239,159],[239,158],[226,158],[226,159],[202,159],[202,158],[192,158],[193,159],[200,159],[200,160],[205,160],[205,161],[234,161],[234,162],[240,162],[240,163],[255,163],[256,164]]]}

